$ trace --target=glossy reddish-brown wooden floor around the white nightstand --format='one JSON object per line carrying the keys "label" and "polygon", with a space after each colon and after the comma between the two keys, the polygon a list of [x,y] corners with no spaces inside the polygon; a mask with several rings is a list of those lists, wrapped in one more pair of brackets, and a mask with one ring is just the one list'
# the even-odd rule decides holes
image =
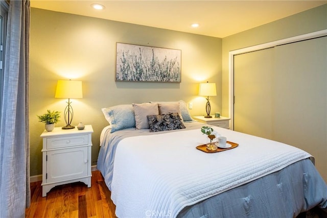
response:
{"label": "glossy reddish-brown wooden floor around the white nightstand", "polygon": [[60,185],[44,198],[41,181],[33,182],[25,217],[116,217],[110,195],[99,171],[92,172],[90,188],[82,182]]}

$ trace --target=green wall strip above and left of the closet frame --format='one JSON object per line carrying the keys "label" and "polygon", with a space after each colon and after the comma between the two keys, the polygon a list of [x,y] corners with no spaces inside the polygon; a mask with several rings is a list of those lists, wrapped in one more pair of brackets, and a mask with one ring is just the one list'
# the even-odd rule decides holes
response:
{"label": "green wall strip above and left of the closet frame", "polygon": [[229,115],[228,52],[327,29],[327,4],[222,39],[222,112]]}

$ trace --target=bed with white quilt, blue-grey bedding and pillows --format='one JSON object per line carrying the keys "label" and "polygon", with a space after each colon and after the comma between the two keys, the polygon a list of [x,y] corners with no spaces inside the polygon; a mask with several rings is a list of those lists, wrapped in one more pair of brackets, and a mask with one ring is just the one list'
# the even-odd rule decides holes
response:
{"label": "bed with white quilt, blue-grey bedding and pillows", "polygon": [[[103,109],[110,125],[101,133],[97,166],[118,217],[327,217],[327,186],[310,154],[219,127],[212,128],[239,146],[199,151],[204,125],[177,103]],[[161,123],[149,122],[172,112],[179,128],[157,131]]]}

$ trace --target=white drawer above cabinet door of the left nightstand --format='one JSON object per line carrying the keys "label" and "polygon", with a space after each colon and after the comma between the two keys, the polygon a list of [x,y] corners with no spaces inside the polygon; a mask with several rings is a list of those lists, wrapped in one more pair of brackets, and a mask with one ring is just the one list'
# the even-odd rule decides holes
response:
{"label": "white drawer above cabinet door of the left nightstand", "polygon": [[88,135],[74,135],[67,137],[53,137],[46,139],[47,149],[56,149],[71,146],[83,146],[88,144]]}

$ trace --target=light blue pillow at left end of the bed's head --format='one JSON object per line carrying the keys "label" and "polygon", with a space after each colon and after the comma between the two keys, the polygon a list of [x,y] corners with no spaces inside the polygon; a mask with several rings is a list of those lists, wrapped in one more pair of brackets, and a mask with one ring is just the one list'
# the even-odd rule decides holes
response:
{"label": "light blue pillow at left end of the bed's head", "polygon": [[135,128],[135,115],[132,105],[102,108],[102,112],[111,126],[111,133],[121,129]]}

